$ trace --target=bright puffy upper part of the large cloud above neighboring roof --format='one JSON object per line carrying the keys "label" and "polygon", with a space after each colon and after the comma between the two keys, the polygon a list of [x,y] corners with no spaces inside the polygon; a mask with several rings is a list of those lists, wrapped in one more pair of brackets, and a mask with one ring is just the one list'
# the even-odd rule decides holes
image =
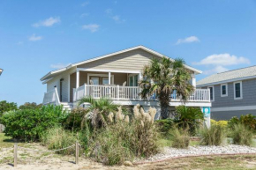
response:
{"label": "bright puffy upper part of the large cloud above neighboring roof", "polygon": [[208,55],[202,59],[199,63],[193,63],[195,65],[237,65],[241,63],[250,64],[250,60],[244,56],[237,57],[236,55],[230,55],[228,53],[219,55]]}

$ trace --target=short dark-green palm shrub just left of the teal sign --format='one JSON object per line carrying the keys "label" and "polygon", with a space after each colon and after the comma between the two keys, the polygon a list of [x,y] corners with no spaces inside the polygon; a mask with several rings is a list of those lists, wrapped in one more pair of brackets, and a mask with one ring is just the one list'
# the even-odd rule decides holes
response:
{"label": "short dark-green palm shrub just left of the teal sign", "polygon": [[177,115],[175,117],[175,122],[178,126],[183,129],[189,129],[190,135],[194,136],[197,133],[197,129],[204,121],[204,114],[202,113],[200,107],[176,107]]}

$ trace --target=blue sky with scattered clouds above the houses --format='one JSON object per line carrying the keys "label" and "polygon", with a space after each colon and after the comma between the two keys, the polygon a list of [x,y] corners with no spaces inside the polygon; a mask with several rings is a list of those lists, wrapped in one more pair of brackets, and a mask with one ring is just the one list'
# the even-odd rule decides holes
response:
{"label": "blue sky with scattered clouds above the houses", "polygon": [[205,73],[256,63],[256,1],[0,0],[0,100],[41,103],[50,70],[144,45]]}

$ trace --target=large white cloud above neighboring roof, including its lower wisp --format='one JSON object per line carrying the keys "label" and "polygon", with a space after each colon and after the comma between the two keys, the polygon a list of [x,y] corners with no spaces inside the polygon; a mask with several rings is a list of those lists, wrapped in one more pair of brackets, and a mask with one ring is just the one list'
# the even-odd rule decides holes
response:
{"label": "large white cloud above neighboring roof, including its lower wisp", "polygon": [[213,67],[211,70],[205,70],[204,74],[214,74],[223,71],[229,70],[226,68],[230,65],[238,65],[238,64],[250,64],[250,60],[245,58],[244,56],[236,56],[230,55],[228,53],[223,53],[219,55],[208,55],[200,62],[194,62],[193,65],[204,65],[206,67]]}

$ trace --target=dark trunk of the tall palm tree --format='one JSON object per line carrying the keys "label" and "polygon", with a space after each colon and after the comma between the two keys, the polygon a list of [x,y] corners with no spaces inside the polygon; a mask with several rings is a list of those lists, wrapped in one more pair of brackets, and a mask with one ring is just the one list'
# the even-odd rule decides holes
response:
{"label": "dark trunk of the tall palm tree", "polygon": [[162,119],[167,119],[169,116],[169,95],[169,92],[160,92],[159,95]]}

